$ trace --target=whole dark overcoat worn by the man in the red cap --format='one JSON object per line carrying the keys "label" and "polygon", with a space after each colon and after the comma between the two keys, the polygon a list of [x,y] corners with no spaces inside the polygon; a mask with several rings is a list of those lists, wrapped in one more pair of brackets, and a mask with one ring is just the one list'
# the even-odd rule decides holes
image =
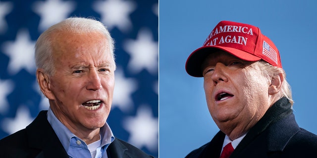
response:
{"label": "whole dark overcoat worn by the man in the red cap", "polygon": [[[186,158],[219,158],[225,134],[211,140]],[[312,158],[317,157],[317,135],[300,128],[288,99],[278,100],[250,129],[230,158]]]}

